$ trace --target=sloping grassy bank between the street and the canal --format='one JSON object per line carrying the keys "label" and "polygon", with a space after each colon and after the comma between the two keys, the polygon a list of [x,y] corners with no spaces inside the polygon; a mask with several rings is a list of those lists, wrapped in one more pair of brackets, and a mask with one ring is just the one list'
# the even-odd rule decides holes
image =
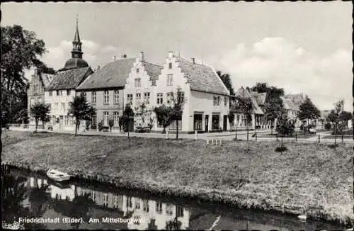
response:
{"label": "sloping grassy bank between the street and the canal", "polygon": [[[353,147],[164,140],[7,131],[2,161],[115,179],[115,184],[248,208],[303,205],[312,218],[353,220]],[[249,150],[248,147],[249,146]]]}

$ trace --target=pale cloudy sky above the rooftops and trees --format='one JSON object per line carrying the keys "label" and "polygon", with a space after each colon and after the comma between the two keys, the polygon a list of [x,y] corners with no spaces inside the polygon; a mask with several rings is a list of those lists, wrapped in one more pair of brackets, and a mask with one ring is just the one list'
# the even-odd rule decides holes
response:
{"label": "pale cloudy sky above the rooftops and trees", "polygon": [[321,110],[343,98],[353,111],[351,1],[8,2],[1,11],[1,26],[18,24],[44,40],[42,61],[55,69],[71,57],[77,16],[92,69],[141,51],[162,64],[171,50],[231,74],[234,89],[267,82],[303,92]]}

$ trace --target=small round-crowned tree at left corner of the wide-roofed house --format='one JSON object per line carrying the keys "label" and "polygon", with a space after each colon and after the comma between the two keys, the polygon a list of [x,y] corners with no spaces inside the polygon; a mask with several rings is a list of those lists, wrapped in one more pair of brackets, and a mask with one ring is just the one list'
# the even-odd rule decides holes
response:
{"label": "small round-crowned tree at left corner of the wide-roofed house", "polygon": [[75,96],[73,101],[69,103],[69,113],[75,117],[75,136],[79,129],[80,120],[91,120],[92,116],[96,114],[96,109],[93,108],[87,101],[84,94]]}

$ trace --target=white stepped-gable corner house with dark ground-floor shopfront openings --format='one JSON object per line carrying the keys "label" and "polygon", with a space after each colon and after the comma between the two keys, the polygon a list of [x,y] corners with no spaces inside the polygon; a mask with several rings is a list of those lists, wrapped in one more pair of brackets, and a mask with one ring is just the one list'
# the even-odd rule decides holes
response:
{"label": "white stepped-gable corner house with dark ground-floor shopfront openings", "polygon": [[[222,83],[215,69],[206,64],[198,64],[195,59],[186,60],[169,52],[161,74],[156,79],[156,106],[171,104],[173,94],[181,89],[185,103],[178,121],[169,125],[169,130],[182,133],[227,130],[229,113],[229,90]],[[157,123],[154,130],[161,131]]]}

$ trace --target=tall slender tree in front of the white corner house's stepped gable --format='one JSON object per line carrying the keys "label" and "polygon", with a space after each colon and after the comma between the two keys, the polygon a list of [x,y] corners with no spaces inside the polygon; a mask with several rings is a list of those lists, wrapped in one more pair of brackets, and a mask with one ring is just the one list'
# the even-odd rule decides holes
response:
{"label": "tall slender tree in front of the white corner house's stepped gable", "polygon": [[[183,114],[183,106],[186,102],[184,97],[184,93],[181,90],[181,87],[177,88],[176,94],[171,94],[171,103],[172,103],[172,111],[171,111],[171,120],[176,120],[176,140],[178,140],[178,120],[182,119]],[[176,97],[175,97],[176,95]]]}

